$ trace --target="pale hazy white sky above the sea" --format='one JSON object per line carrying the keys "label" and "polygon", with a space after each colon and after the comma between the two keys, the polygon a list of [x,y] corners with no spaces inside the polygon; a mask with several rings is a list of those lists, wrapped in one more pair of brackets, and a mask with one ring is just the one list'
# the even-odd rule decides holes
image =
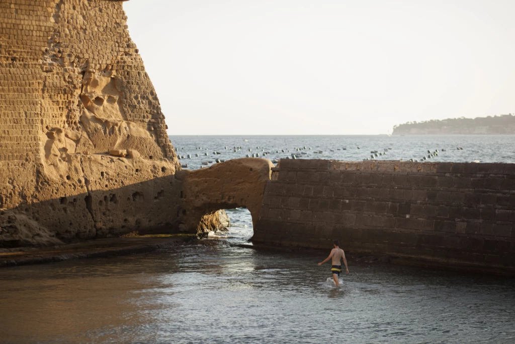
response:
{"label": "pale hazy white sky above the sea", "polygon": [[515,112],[515,1],[130,0],[169,134],[386,134]]}

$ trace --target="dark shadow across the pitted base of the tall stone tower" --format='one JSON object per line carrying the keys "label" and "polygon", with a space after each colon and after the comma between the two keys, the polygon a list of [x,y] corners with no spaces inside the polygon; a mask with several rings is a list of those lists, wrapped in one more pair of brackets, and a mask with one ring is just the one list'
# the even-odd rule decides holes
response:
{"label": "dark shadow across the pitted base of the tall stone tower", "polygon": [[[182,182],[175,175],[0,210],[0,247],[185,232]],[[194,233],[194,232],[191,232]]]}

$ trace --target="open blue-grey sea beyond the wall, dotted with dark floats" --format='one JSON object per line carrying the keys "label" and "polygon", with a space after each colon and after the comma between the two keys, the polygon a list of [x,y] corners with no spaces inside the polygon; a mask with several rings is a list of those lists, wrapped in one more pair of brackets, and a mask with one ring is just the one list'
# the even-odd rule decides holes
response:
{"label": "open blue-grey sea beyond the wall, dotted with dark floats", "polygon": [[[248,141],[244,141],[245,139]],[[170,140],[177,154],[186,157],[180,161],[188,165],[187,169],[198,169],[202,166],[202,161],[206,160],[213,161],[207,165],[210,166],[216,158],[242,158],[247,154],[252,156],[256,153],[270,160],[296,154],[297,158],[302,159],[361,161],[370,159],[371,151],[384,152],[385,149],[389,149],[386,155],[380,155],[374,159],[422,160],[424,156],[429,155],[427,151],[434,153],[438,150],[438,156],[430,157],[427,161],[515,162],[515,136],[513,135],[170,136]],[[226,146],[228,150],[225,149]],[[242,149],[233,152],[234,146],[241,146]],[[202,149],[199,150],[199,147]],[[458,147],[463,150],[457,150]],[[296,151],[295,148],[302,148],[302,151]],[[252,152],[249,152],[249,149]],[[446,151],[444,152],[443,149]],[[217,151],[221,154],[213,154]],[[322,151],[322,153],[314,153],[315,151]],[[263,156],[264,152],[270,152],[270,154]],[[204,155],[205,153],[208,155]],[[187,158],[188,154],[191,158]],[[196,154],[199,156],[196,157]]]}

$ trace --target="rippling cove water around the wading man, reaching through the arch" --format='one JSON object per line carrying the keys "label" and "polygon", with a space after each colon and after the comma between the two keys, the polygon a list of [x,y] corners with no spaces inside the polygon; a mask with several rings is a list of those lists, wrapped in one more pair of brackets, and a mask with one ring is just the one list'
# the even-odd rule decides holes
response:
{"label": "rippling cove water around the wading man, reaching through the arch", "polygon": [[330,266],[317,266],[329,249],[235,247],[252,228],[247,210],[230,216],[229,239],[1,269],[0,340],[515,341],[513,279],[350,261],[341,287],[329,288]]}

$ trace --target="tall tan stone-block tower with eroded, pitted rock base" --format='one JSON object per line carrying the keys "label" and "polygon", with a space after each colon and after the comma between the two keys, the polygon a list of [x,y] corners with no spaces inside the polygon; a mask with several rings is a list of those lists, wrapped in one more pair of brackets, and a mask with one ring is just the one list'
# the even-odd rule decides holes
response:
{"label": "tall tan stone-block tower with eroded, pitted rock base", "polygon": [[0,209],[19,224],[0,241],[178,227],[180,164],[122,2],[0,8]]}

